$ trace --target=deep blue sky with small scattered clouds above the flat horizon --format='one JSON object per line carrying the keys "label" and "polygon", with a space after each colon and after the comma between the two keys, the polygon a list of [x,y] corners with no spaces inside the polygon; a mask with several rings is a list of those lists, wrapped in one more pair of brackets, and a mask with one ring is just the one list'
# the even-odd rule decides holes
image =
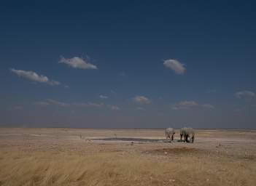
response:
{"label": "deep blue sky with small scattered clouds above the flat horizon", "polygon": [[256,128],[255,1],[1,1],[0,126]]}

